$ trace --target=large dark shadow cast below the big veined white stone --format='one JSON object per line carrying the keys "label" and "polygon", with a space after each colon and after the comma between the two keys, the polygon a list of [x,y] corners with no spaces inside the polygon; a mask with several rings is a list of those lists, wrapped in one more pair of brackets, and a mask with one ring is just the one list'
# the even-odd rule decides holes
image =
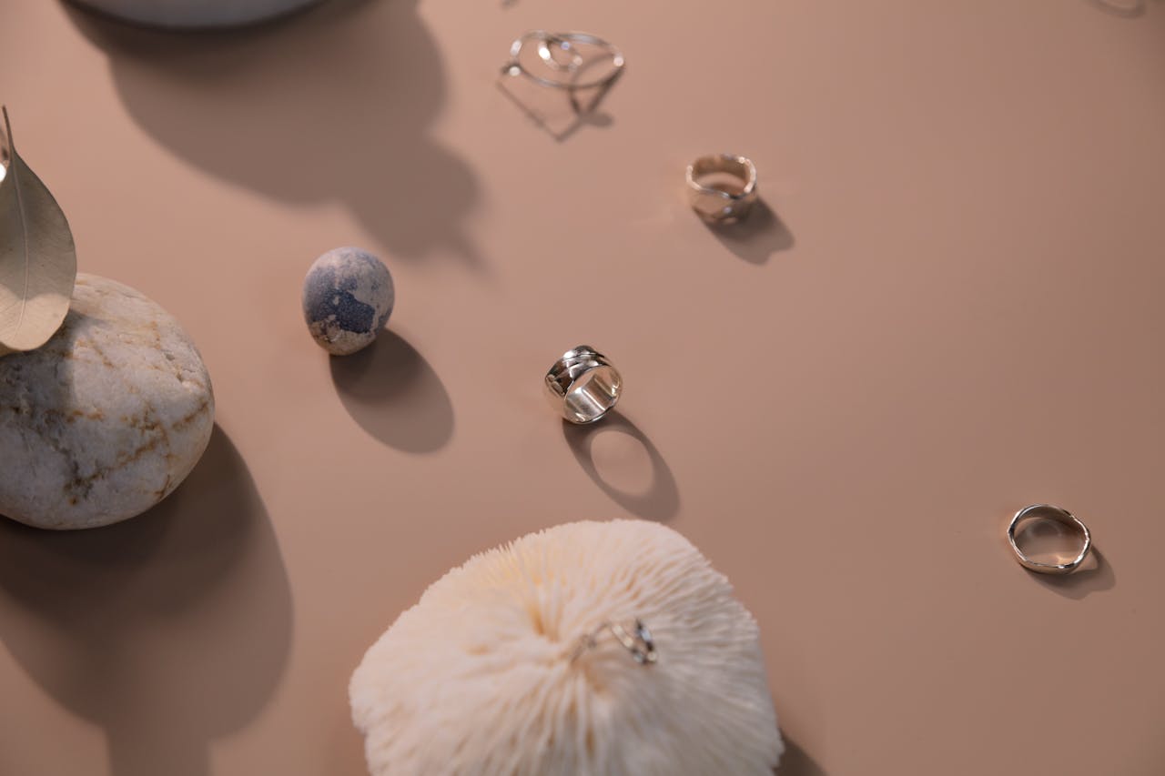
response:
{"label": "large dark shadow cast below the big veined white stone", "polygon": [[218,426],[186,481],[134,520],[0,520],[0,641],[105,731],[113,776],[207,776],[211,741],[270,699],[291,634],[275,531]]}

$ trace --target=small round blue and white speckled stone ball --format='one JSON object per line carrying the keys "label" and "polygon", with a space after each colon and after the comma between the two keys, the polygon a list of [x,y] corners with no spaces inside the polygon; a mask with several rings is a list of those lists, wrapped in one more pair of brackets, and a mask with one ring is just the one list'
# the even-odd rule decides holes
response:
{"label": "small round blue and white speckled stone ball", "polygon": [[303,317],[319,346],[348,355],[376,339],[393,313],[393,276],[360,248],[336,248],[316,260],[303,281]]}

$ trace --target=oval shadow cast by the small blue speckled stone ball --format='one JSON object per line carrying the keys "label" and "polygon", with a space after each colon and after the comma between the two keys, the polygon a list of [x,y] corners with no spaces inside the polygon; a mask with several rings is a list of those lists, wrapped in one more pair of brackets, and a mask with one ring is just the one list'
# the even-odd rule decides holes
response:
{"label": "oval shadow cast by the small blue speckled stone ball", "polygon": [[428,453],[453,437],[453,403],[440,378],[400,334],[382,331],[352,355],[331,357],[336,393],[365,431],[402,452]]}

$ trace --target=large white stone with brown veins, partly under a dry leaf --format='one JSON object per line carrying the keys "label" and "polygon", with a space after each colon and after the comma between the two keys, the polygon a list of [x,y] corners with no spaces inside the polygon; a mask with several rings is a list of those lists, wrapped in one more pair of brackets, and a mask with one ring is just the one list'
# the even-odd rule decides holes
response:
{"label": "large white stone with brown veins, partly under a dry leaf", "polygon": [[140,515],[193,470],[213,426],[210,375],[178,322],[78,275],[52,339],[0,358],[0,515],[51,529]]}

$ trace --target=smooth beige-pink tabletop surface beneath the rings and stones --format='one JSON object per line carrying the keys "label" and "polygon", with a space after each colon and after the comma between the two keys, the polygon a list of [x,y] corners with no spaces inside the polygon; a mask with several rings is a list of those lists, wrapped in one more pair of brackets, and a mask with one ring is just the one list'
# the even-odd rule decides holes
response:
{"label": "smooth beige-pink tabletop surface beneath the rings and stones", "polygon": [[[0,99],[86,271],[172,311],[219,431],[154,514],[0,525],[0,774],[363,770],[363,649],[474,551],[663,520],[761,622],[781,776],[1165,773],[1165,3],[369,0],[241,34],[5,0]],[[510,40],[624,50],[556,141]],[[760,165],[718,235],[683,165]],[[397,281],[330,364],[319,253]],[[539,380],[588,343],[623,414]],[[5,466],[20,461],[5,460]],[[1073,509],[1053,581],[1003,529]]]}

